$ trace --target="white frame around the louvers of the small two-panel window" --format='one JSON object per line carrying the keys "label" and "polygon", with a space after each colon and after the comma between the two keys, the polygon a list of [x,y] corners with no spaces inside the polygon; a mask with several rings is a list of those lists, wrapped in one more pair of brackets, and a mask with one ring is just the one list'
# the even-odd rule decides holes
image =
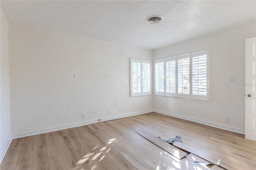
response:
{"label": "white frame around the louvers of the small two-panel window", "polygon": [[[132,92],[132,63],[140,63],[140,92]],[[149,91],[143,91],[143,76],[142,76],[142,65],[144,64],[149,64],[149,73],[147,76],[147,79],[149,79],[149,88],[147,85],[147,89],[149,89]],[[146,95],[151,95],[151,61],[150,60],[146,60],[146,59],[136,59],[136,58],[130,58],[130,97],[136,97],[136,96],[146,96]]]}

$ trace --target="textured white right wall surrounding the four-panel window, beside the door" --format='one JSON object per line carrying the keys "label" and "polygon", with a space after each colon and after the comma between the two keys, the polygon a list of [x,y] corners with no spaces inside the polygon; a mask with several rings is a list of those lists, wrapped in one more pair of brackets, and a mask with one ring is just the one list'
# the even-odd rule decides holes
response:
{"label": "textured white right wall surrounding the four-panel window, beside the door", "polygon": [[154,95],[154,109],[244,128],[245,39],[256,36],[255,28],[251,23],[154,50],[154,60],[210,50],[210,100]]}

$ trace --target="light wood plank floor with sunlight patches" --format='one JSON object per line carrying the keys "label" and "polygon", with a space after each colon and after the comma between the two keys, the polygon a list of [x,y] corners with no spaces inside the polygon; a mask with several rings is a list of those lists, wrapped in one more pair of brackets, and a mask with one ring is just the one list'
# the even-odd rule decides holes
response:
{"label": "light wood plank floor with sunlight patches", "polygon": [[135,132],[141,129],[163,139],[181,136],[183,147],[216,156],[226,169],[256,169],[256,142],[244,139],[244,135],[158,113],[13,139],[0,168],[223,169],[196,166],[194,161],[205,160],[193,154],[178,160]]}

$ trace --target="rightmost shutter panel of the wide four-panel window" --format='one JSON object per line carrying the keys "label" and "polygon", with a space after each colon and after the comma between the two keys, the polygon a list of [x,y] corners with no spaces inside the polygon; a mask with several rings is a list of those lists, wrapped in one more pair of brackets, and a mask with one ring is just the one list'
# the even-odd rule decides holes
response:
{"label": "rightmost shutter panel of the wide four-panel window", "polygon": [[208,51],[192,53],[192,97],[208,99]]}

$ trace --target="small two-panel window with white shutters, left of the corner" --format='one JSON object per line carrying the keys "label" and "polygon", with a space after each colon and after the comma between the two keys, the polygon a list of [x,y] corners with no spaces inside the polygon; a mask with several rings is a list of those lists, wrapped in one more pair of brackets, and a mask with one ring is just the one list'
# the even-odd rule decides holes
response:
{"label": "small two-panel window with white shutters, left of the corner", "polygon": [[130,59],[130,96],[150,95],[150,61]]}

